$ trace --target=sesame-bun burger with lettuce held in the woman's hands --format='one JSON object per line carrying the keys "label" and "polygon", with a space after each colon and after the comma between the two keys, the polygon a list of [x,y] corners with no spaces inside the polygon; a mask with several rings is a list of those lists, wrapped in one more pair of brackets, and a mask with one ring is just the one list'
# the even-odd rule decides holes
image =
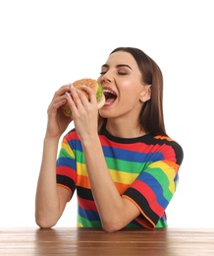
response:
{"label": "sesame-bun burger with lettuce held in the woman's hands", "polygon": [[[87,97],[88,95],[82,90],[82,86],[86,86],[94,90],[96,94],[96,100],[97,100],[97,109],[101,108],[105,103],[105,96],[103,94],[102,86],[94,79],[90,78],[84,78],[77,80],[73,83],[73,86],[82,91]],[[62,106],[63,112],[66,116],[71,117],[72,116],[72,110],[68,103]]]}

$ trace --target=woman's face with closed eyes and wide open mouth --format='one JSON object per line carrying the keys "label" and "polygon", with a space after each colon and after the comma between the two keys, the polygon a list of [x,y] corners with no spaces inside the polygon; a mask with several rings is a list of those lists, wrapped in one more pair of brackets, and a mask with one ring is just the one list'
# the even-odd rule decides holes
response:
{"label": "woman's face with closed eyes and wide open mouth", "polygon": [[141,73],[129,52],[112,53],[102,65],[98,82],[106,97],[105,105],[99,109],[104,118],[138,118],[146,87],[141,83]]}

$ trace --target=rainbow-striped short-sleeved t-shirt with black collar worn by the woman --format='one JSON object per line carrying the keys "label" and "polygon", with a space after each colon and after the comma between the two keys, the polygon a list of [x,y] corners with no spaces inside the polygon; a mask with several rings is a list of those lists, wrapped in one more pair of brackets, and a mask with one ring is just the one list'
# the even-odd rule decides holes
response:
{"label": "rainbow-striped short-sleeved t-shirt with black collar worn by the woman", "polygon": [[[120,195],[131,200],[140,215],[127,227],[165,227],[165,210],[178,183],[181,146],[166,136],[124,139],[105,127],[99,133],[109,173]],[[102,182],[102,180],[100,180]],[[57,160],[57,184],[78,196],[78,226],[101,227],[91,193],[80,138],[75,129],[62,141]]]}

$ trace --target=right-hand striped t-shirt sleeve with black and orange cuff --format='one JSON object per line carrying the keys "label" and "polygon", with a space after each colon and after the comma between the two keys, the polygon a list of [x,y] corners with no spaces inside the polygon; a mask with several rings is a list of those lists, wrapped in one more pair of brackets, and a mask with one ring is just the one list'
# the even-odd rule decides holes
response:
{"label": "right-hand striped t-shirt sleeve with black and orange cuff", "polygon": [[176,192],[178,172],[183,161],[181,147],[169,148],[163,160],[150,162],[137,176],[122,197],[131,200],[139,209],[136,222],[154,228]]}

